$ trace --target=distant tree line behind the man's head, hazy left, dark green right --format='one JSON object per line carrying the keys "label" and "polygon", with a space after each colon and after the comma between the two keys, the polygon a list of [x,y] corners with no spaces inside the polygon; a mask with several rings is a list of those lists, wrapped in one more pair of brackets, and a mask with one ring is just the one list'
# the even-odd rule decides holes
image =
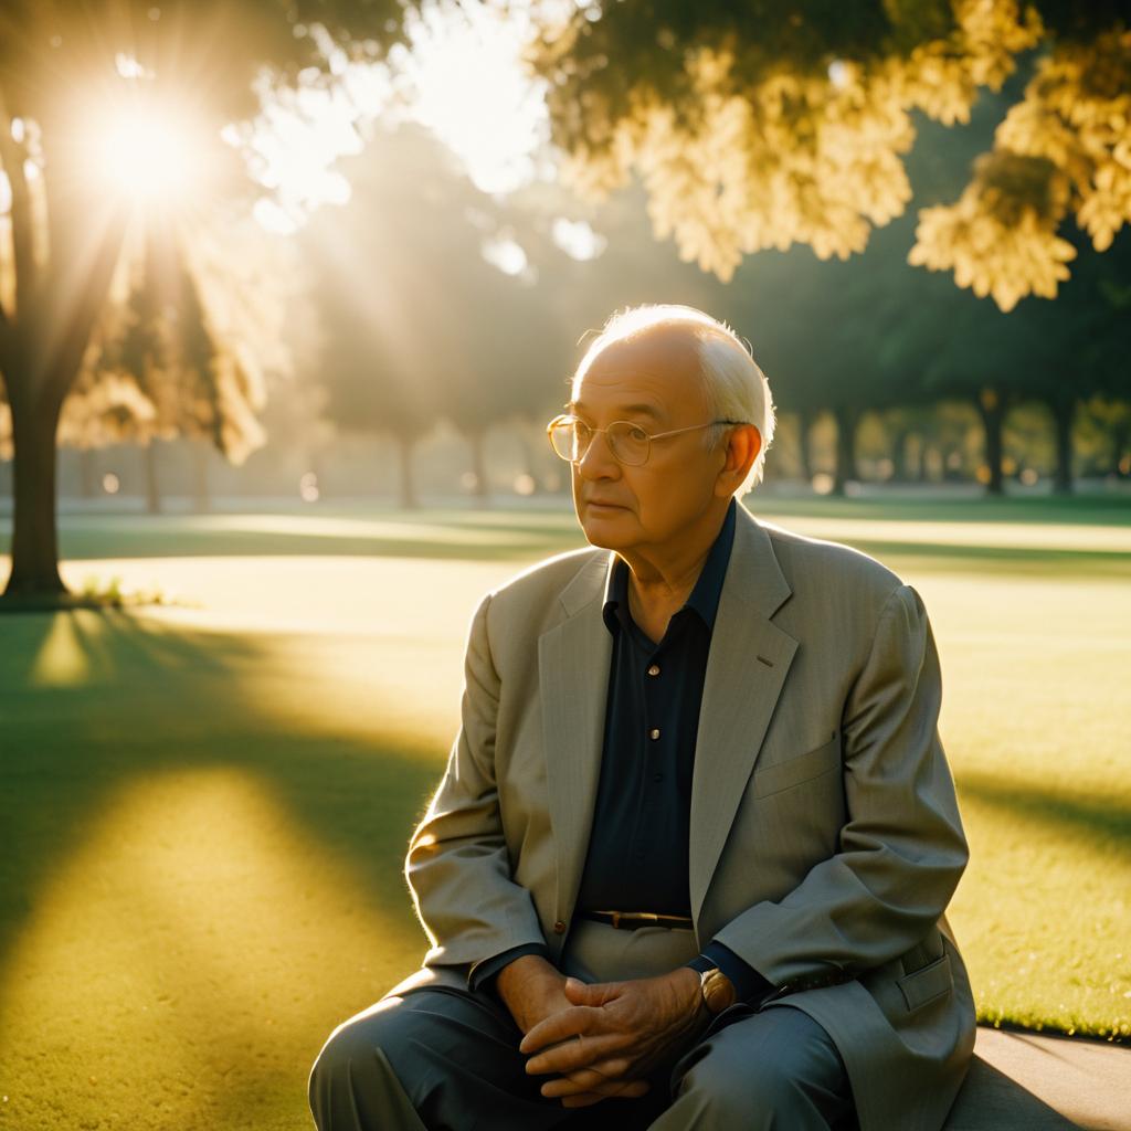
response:
{"label": "distant tree line behind the man's head, hazy left, dark green right", "polygon": [[[960,183],[1007,96],[985,100],[965,130],[923,126],[908,162],[916,204]],[[861,477],[857,435],[866,414],[888,423],[891,475],[901,477],[910,441],[922,451],[941,421],[953,430],[953,418],[936,409],[956,402],[972,406],[982,424],[979,473],[990,493],[1004,490],[1010,466],[1007,417],[1026,404],[1047,413],[1057,491],[1072,486],[1072,428],[1082,405],[1094,426],[1110,428],[1110,466],[1125,474],[1126,233],[1104,254],[1079,239],[1073,276],[1057,300],[1025,299],[1007,313],[908,265],[909,213],[846,261],[821,262],[805,248],[765,252],[723,284],[650,238],[632,192],[580,209],[608,248],[578,260],[550,238],[559,210],[579,213],[576,200],[536,185],[495,201],[423,131],[381,131],[347,173],[349,204],[320,211],[302,238],[322,327],[317,380],[338,430],[383,432],[397,442],[406,506],[418,502],[414,448],[441,417],[468,439],[473,482],[485,500],[487,429],[516,422],[529,435],[528,425],[559,412],[584,349],[579,337],[613,309],[641,301],[702,307],[751,340],[779,411],[795,421],[806,478],[810,434],[831,416],[836,492]],[[500,233],[525,253],[525,268],[512,275],[484,257]]]}

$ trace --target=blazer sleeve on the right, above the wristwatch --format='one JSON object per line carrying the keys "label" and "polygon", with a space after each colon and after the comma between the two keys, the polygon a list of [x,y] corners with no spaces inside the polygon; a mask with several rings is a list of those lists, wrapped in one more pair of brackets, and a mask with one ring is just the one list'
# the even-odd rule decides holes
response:
{"label": "blazer sleeve on the right, above the wristwatch", "polygon": [[839,851],[784,898],[754,904],[715,934],[775,984],[880,966],[946,910],[969,852],[939,740],[941,699],[926,611],[899,585],[844,703]]}

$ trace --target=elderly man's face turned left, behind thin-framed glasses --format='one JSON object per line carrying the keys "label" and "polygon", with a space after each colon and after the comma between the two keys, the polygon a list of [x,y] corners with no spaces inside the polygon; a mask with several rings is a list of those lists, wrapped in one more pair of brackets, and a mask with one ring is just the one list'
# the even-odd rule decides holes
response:
{"label": "elderly man's face turned left, behind thin-framed glasses", "polygon": [[[570,411],[593,428],[623,420],[649,435],[713,420],[698,359],[677,327],[599,354],[575,387]],[[707,451],[705,432],[654,441],[639,467],[619,463],[605,435],[594,435],[572,465],[573,506],[588,542],[622,553],[677,545],[717,498],[724,446]]]}

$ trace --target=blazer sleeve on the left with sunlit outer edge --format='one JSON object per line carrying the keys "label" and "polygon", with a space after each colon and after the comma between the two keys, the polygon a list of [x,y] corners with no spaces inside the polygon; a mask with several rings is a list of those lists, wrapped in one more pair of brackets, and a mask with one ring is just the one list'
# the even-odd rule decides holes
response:
{"label": "blazer sleeve on the left with sunlit outer edge", "polygon": [[544,944],[529,891],[511,879],[495,783],[500,677],[487,637],[492,595],[472,619],[459,733],[440,786],[413,834],[405,878],[429,936],[425,966],[475,966],[502,951]]}

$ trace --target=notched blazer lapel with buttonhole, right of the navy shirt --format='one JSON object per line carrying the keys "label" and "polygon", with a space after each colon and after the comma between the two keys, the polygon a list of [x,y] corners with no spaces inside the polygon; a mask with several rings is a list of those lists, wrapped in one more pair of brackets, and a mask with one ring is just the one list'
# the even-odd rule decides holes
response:
{"label": "notched blazer lapel with buttonhole, right of the navy shirt", "polygon": [[797,649],[797,641],[770,622],[793,590],[769,535],[741,503],[735,517],[691,779],[689,880],[697,923]]}

